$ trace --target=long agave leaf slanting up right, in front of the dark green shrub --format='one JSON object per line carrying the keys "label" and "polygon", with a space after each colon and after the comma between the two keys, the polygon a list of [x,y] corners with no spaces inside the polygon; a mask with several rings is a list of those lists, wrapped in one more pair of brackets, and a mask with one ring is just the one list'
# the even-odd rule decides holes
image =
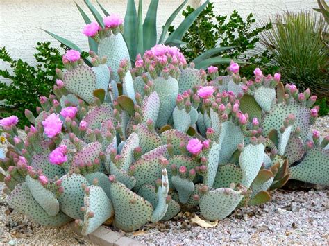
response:
{"label": "long agave leaf slanting up right, in front of the dark green shrub", "polygon": [[176,30],[174,30],[174,33],[171,33],[171,35],[167,38],[165,44],[172,42],[173,40],[181,40],[187,30],[189,29],[190,26],[192,26],[194,20],[200,15],[202,12],[203,8],[207,6],[209,3],[209,0],[205,1],[203,5],[201,5],[199,8],[194,10],[188,17],[184,19],[184,21],[178,26]]}

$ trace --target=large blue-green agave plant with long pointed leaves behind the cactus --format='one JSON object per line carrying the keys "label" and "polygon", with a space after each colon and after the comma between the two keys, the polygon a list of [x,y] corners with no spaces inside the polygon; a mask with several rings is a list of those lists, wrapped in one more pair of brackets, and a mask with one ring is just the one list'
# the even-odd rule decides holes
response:
{"label": "large blue-green agave plant with long pointed leaves behind the cactus", "polygon": [[[99,13],[98,10],[90,3],[89,0],[84,0],[85,4],[89,8],[90,12],[92,12],[92,15],[96,19],[96,22],[101,26],[101,28],[105,28],[105,25],[103,23],[103,17]],[[128,51],[130,55],[130,60],[135,61],[135,57],[137,54],[143,54],[144,51],[147,49],[151,49],[155,44],[166,44],[169,46],[180,46],[184,45],[185,42],[182,41],[183,36],[189,29],[189,27],[193,24],[194,20],[199,16],[200,12],[207,6],[209,0],[205,1],[199,8],[194,10],[189,16],[187,16],[182,23],[179,24],[178,28],[174,31],[174,33],[171,33],[169,37],[167,37],[169,26],[172,24],[180,10],[183,9],[185,4],[187,3],[187,0],[183,1],[183,3],[178,6],[178,8],[171,14],[171,16],[167,19],[166,23],[162,26],[162,33],[158,39],[157,37],[157,10],[158,10],[158,0],[152,0],[149,8],[147,10],[146,17],[143,21],[142,19],[142,0],[138,3],[138,11],[136,11],[135,7],[135,1],[128,0],[127,1],[127,10],[126,10],[126,16],[124,18],[125,28],[123,37],[126,42],[126,45],[128,46]],[[109,12],[103,8],[101,3],[97,1],[99,7],[103,11],[103,14],[108,17],[110,16]],[[78,11],[81,13],[81,16],[83,17],[86,24],[91,24],[92,20],[88,15],[83,11],[83,9],[78,6],[76,3],[76,7],[78,8]],[[60,37],[54,33],[49,32],[48,30],[44,30],[46,33],[51,35],[53,38],[57,39],[58,42],[64,44],[69,49],[74,49],[76,51],[82,52],[81,48],[79,48],[76,44],[72,43],[71,41],[65,39],[64,37]],[[92,37],[88,37],[88,42],[90,46],[90,50],[94,51],[95,53],[98,53],[99,44],[92,39]],[[214,49],[211,49],[208,52],[205,52],[201,55],[199,55],[196,60],[194,60],[194,64],[199,67],[208,67],[210,64],[214,63],[228,63],[228,58],[217,58],[212,60],[208,60],[210,56],[212,56],[214,53],[218,53],[219,51],[226,51],[228,49],[232,49],[232,47],[216,47]],[[90,62],[88,60],[85,60],[85,62],[90,65]],[[203,62],[203,63],[201,63]],[[201,63],[201,64],[199,64]]]}

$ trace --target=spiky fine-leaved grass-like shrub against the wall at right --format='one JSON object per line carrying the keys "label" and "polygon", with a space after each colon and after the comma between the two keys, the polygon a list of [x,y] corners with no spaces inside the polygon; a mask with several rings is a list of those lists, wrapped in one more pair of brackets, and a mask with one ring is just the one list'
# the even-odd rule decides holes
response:
{"label": "spiky fine-leaved grass-like shrub against the wall at right", "polygon": [[315,13],[285,13],[271,19],[273,28],[260,34],[260,43],[280,67],[283,82],[309,87],[329,98],[328,46],[323,42],[326,22]]}

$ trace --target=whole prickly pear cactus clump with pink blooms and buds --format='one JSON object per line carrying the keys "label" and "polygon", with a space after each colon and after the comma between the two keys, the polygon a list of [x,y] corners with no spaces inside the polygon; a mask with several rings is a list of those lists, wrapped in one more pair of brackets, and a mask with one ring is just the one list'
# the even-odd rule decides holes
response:
{"label": "whole prickly pear cactus clump with pink blooms and buds", "polygon": [[[270,200],[288,179],[329,184],[328,141],[310,134],[319,107],[307,89],[283,87],[280,74],[255,80],[187,65],[157,45],[130,68],[122,21],[90,24],[99,42],[87,66],[63,56],[54,94],[18,137],[15,116],[1,128],[11,146],[0,164],[7,202],[40,225],[75,220],[90,234],[114,216],[124,231],[199,207],[207,220]],[[106,56],[106,57],[105,57]]]}

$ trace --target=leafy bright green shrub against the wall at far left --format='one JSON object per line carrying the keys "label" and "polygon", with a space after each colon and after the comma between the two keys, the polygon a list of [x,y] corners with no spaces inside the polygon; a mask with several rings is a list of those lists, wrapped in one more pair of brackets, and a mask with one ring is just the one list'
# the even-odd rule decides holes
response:
{"label": "leafy bright green shrub against the wall at far left", "polygon": [[56,67],[62,69],[60,49],[52,48],[50,42],[38,42],[36,49],[36,67],[21,59],[13,60],[5,47],[0,50],[0,60],[12,68],[12,73],[0,70],[0,76],[11,80],[10,84],[0,81],[0,100],[4,103],[0,105],[0,117],[14,114],[21,127],[28,124],[24,109],[35,112],[35,107],[40,106],[38,98],[52,92]]}

